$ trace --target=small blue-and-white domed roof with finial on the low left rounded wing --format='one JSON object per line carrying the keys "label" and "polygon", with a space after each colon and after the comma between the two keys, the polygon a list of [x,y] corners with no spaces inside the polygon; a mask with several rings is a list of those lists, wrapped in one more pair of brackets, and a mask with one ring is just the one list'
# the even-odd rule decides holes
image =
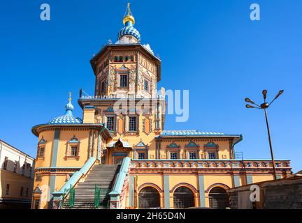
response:
{"label": "small blue-and-white domed roof with finial on the low left rounded wing", "polygon": [[69,93],[69,102],[65,105],[65,114],[57,118],[52,118],[48,124],[81,124],[82,119],[73,117],[73,105],[71,104],[71,93]]}

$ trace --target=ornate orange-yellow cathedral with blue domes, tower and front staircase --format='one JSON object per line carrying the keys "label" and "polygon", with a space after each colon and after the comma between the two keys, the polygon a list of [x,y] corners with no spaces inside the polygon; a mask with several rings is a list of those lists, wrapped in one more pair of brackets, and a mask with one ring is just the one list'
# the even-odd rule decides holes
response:
{"label": "ornate orange-yellow cathedral with blue domes, tower and front staircase", "polygon": [[[95,93],[71,95],[62,116],[36,125],[32,208],[228,208],[228,190],[273,180],[271,160],[236,156],[240,134],[165,130],[161,60],[141,43],[128,5],[116,43],[91,60]],[[278,178],[289,160],[275,160]]]}

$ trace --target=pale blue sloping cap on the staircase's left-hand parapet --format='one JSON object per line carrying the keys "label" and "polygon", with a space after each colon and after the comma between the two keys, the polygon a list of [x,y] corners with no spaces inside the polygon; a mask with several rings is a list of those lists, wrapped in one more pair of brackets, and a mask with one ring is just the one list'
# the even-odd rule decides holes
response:
{"label": "pale blue sloping cap on the staircase's left-hand parapet", "polygon": [[94,163],[96,162],[95,157],[90,157],[89,160],[82,166],[82,168],[79,171],[76,171],[73,176],[63,185],[61,190],[58,190],[56,192],[52,192],[52,195],[54,196],[54,200],[62,199],[62,196],[66,196],[66,194],[69,193],[69,190],[71,187],[74,187],[78,181],[82,178],[82,176],[86,176],[89,170],[94,166]]}

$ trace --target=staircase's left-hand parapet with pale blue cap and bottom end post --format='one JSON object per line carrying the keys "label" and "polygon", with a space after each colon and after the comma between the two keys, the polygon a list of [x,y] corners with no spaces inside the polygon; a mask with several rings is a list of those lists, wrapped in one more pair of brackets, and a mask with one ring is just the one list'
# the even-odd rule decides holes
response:
{"label": "staircase's left-hand parapet with pale blue cap and bottom end post", "polygon": [[[63,185],[61,190],[58,190],[56,192],[52,192],[53,195],[53,206],[54,209],[61,209],[64,200],[68,195],[70,195],[72,192],[74,192],[74,188],[76,185],[78,185],[79,181],[87,176],[89,171],[94,167],[94,164],[96,163],[95,157],[90,157],[89,160],[82,166],[82,168],[79,171],[76,171],[73,176]],[[73,188],[73,190],[71,190]],[[69,200],[70,201],[70,200]],[[74,199],[73,199],[74,203]],[[70,206],[70,205],[69,205]]]}

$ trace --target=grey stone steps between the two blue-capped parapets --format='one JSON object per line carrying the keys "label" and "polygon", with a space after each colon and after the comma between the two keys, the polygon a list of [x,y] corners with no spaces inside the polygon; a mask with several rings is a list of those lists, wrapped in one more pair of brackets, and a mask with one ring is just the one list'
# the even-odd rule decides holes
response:
{"label": "grey stone steps between the two blue-capped parapets", "polygon": [[[73,209],[94,209],[95,185],[101,190],[99,209],[107,209],[110,199],[108,193],[112,190],[119,169],[118,164],[94,166],[85,181],[75,187]],[[64,202],[63,208],[70,209],[69,197]]]}

